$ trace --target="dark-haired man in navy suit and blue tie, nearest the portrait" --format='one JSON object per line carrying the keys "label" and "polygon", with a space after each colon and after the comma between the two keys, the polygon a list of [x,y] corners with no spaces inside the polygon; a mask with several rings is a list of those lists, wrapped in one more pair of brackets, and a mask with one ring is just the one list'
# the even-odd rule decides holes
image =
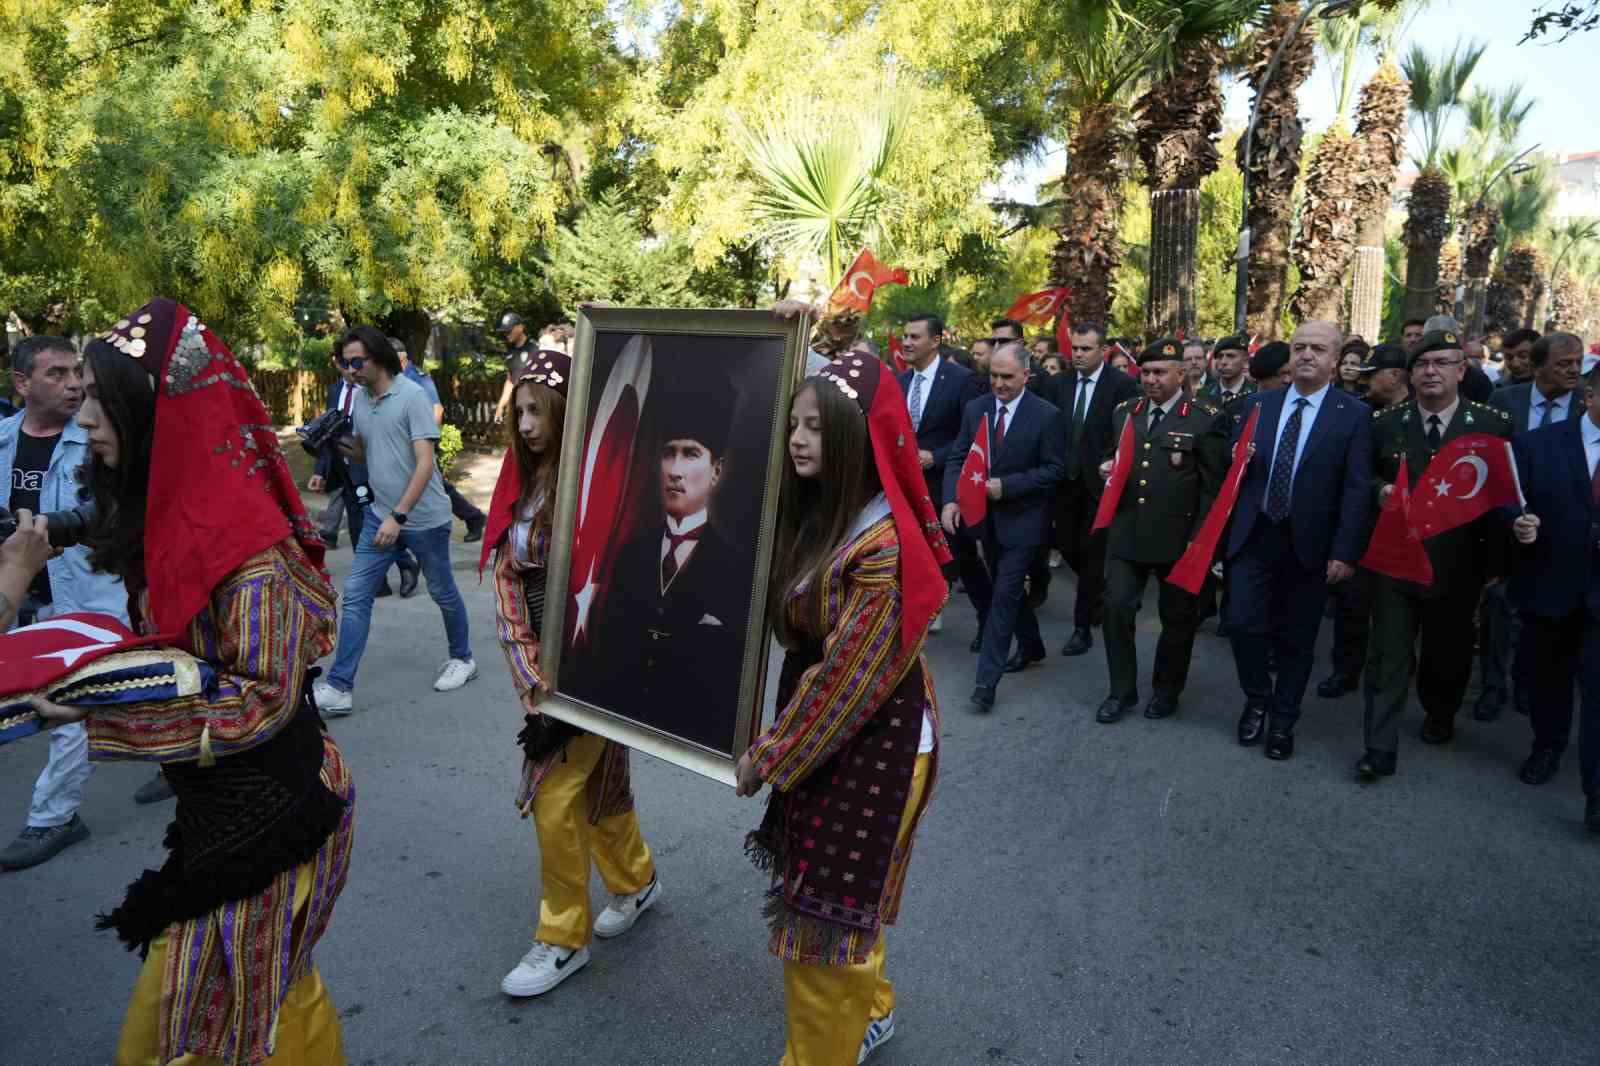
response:
{"label": "dark-haired man in navy suit and blue tie, nearest the portrait", "polygon": [[[906,410],[917,431],[917,456],[922,459],[922,475],[928,482],[928,499],[934,514],[944,506],[944,467],[950,459],[955,439],[962,435],[962,411],[978,399],[978,376],[965,367],[939,357],[939,338],[944,322],[933,314],[915,314],[906,320],[902,343],[910,370],[894,375],[906,392]],[[966,456],[962,456],[966,461]],[[978,611],[978,634],[973,637],[973,653],[982,648],[984,619],[989,616],[989,600],[994,587],[989,571],[978,559],[978,544],[963,530],[950,538],[950,554],[955,555],[957,573],[966,597]]]}

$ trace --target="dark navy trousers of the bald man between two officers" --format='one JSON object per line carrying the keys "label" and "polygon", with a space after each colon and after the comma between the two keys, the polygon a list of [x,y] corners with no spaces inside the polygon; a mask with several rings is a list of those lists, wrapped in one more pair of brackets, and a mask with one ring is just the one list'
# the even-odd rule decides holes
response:
{"label": "dark navy trousers of the bald man between two officers", "polygon": [[[1261,515],[1245,547],[1227,560],[1227,586],[1224,621],[1245,701],[1293,727],[1328,602],[1328,567],[1304,567],[1290,523]],[[1275,680],[1267,671],[1269,651],[1278,666]]]}

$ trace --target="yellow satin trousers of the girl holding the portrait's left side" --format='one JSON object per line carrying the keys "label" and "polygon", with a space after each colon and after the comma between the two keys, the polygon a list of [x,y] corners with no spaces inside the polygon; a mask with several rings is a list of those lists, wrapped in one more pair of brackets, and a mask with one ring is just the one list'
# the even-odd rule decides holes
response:
{"label": "yellow satin trousers of the girl holding the portrait's left side", "polygon": [[638,892],[656,876],[634,812],[589,823],[589,775],[605,749],[594,733],[574,736],[533,797],[539,831],[539,932],[536,940],[568,951],[589,944],[594,919],[589,908],[589,864],[600,871],[606,892]]}

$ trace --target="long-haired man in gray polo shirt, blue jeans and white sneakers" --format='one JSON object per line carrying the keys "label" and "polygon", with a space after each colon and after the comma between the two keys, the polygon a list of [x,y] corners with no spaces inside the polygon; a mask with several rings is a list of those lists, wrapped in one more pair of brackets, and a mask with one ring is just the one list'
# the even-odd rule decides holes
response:
{"label": "long-haired man in gray polo shirt, blue jeans and white sneakers", "polygon": [[453,691],[478,675],[467,635],[467,607],[450,570],[450,498],[434,461],[438,423],[434,405],[421,386],[400,373],[400,357],[382,331],[355,327],[339,341],[365,392],[355,394],[350,416],[355,440],[352,458],[366,463],[373,503],[365,511],[355,543],[355,562],[344,579],[344,611],[339,621],[339,648],[328,680],[314,685],[323,714],[349,714],[355,671],[366,650],[373,621],[373,599],[390,563],[403,549],[422,563],[427,594],[438,603],[450,643],[450,661],[434,682],[438,691]]}

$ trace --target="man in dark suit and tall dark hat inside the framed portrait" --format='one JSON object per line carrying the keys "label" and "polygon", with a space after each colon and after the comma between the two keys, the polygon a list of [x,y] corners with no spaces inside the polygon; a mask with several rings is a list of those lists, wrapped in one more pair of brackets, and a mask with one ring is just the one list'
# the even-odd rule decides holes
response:
{"label": "man in dark suit and tall dark hat inside the framed portrait", "polygon": [[594,682],[606,709],[726,752],[754,575],[714,506],[738,394],[709,367],[653,399],[662,519],[616,557]]}

